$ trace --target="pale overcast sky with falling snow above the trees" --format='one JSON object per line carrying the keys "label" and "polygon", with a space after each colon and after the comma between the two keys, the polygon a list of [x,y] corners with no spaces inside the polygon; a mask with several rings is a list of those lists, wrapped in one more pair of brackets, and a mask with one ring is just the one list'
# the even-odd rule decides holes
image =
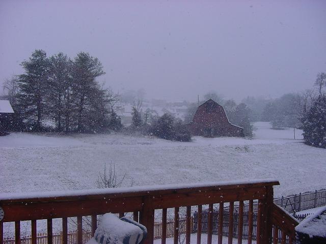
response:
{"label": "pale overcast sky with falling snow above the trees", "polygon": [[326,1],[0,2],[0,84],[34,49],[103,64],[114,92],[279,97],[326,72]]}

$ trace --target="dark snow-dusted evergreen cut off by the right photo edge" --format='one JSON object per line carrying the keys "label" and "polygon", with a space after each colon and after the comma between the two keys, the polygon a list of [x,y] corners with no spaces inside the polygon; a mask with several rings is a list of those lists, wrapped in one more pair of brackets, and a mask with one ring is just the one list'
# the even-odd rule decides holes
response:
{"label": "dark snow-dusted evergreen cut off by the right photo edge", "polygon": [[326,96],[319,96],[302,119],[308,145],[326,148]]}

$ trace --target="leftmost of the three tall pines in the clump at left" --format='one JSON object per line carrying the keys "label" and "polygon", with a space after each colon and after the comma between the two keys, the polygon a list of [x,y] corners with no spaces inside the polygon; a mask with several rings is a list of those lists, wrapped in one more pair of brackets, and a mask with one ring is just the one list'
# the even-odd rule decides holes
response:
{"label": "leftmost of the three tall pines in the clump at left", "polygon": [[21,63],[25,73],[19,76],[19,106],[23,118],[31,128],[40,131],[47,111],[46,96],[49,93],[49,59],[43,50],[35,50],[29,60]]}

